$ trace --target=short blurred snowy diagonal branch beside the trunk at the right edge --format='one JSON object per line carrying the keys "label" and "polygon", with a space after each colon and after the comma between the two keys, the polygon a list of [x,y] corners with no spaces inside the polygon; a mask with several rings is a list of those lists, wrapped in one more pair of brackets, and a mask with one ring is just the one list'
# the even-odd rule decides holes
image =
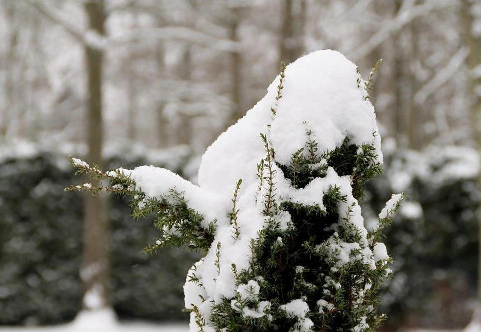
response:
{"label": "short blurred snowy diagonal branch beside the trunk at the right edge", "polygon": [[417,104],[422,104],[427,97],[435,92],[439,87],[446,83],[464,63],[467,55],[469,54],[469,48],[461,46],[458,51],[451,57],[447,65],[439,70],[434,77],[432,77],[426,84],[424,84],[414,95],[414,101]]}

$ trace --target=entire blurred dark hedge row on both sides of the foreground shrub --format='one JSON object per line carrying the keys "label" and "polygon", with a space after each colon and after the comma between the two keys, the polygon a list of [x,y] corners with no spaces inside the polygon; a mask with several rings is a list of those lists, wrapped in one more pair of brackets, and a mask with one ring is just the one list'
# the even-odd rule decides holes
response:
{"label": "entire blurred dark hedge row on both sides of the foreground shrub", "polygon": [[[396,272],[383,298],[388,328],[460,326],[468,319],[466,300],[474,296],[475,174],[450,173],[453,165],[477,166],[459,153],[421,156],[388,156],[384,174],[368,183],[362,203],[365,219],[374,217],[398,190],[395,180],[407,174],[404,205],[422,208],[417,216],[401,209],[386,233]],[[170,168],[182,175],[187,160],[177,159],[178,166]],[[150,162],[117,157],[108,163],[133,167]],[[78,193],[63,192],[79,181],[63,157],[0,161],[0,325],[56,324],[79,310],[82,201]],[[118,316],[186,320],[180,311],[182,285],[195,254],[178,249],[144,254],[156,230],[151,220],[134,221],[124,199],[111,197],[110,218],[112,300]]]}

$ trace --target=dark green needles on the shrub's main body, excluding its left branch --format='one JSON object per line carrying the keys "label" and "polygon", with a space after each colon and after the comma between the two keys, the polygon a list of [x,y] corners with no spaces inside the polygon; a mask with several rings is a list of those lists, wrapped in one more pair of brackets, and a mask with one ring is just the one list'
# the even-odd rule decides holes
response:
{"label": "dark green needles on the shrub's main body, excluding its left branch", "polygon": [[[308,137],[310,133],[307,132]],[[267,189],[273,186],[275,175],[270,172],[270,149],[265,136],[262,136],[267,157],[258,167],[259,179],[264,180]],[[312,179],[325,177],[327,167],[333,167],[341,175],[348,175],[353,184],[360,186],[380,172],[380,165],[375,163],[373,147],[358,147],[349,144],[346,138],[344,144],[330,153],[319,155],[315,141],[309,140],[304,149],[298,150],[291,157],[289,165],[277,164],[282,175],[289,179],[295,188],[304,188]],[[306,153],[307,152],[307,153]],[[360,198],[362,191],[354,191],[355,198]],[[271,199],[273,191],[267,190],[264,202]],[[338,202],[345,202],[339,188],[331,186],[323,196],[325,210],[318,206],[305,206],[292,202],[283,202],[280,210],[288,211],[293,227],[282,230],[275,220],[275,214],[263,210],[269,218],[268,226],[260,231],[257,241],[252,241],[253,260],[247,271],[236,271],[236,286],[257,280],[259,296],[257,302],[243,300],[237,296],[236,307],[232,308],[230,300],[225,300],[212,309],[210,320],[218,329],[227,328],[229,332],[289,332],[297,321],[288,318],[279,306],[295,299],[304,299],[310,308],[308,318],[314,323],[313,331],[349,331],[356,326],[360,317],[367,316],[369,331],[374,331],[379,320],[370,306],[377,303],[380,285],[385,279],[384,269],[372,270],[365,263],[356,261],[342,269],[331,270],[335,261],[326,260],[324,248],[316,247],[338,232],[339,239],[347,243],[358,243],[360,236],[353,227],[343,228],[339,224],[337,214]],[[264,203],[268,206],[268,203]],[[335,226],[334,226],[335,225]],[[355,255],[355,253],[354,253]],[[235,267],[234,267],[235,268]],[[260,278],[259,278],[260,277]],[[359,284],[360,283],[360,284]],[[372,288],[366,291],[362,305],[356,305],[352,299],[354,294],[366,283]],[[327,287],[326,287],[327,285]],[[339,285],[338,287],[335,287]],[[328,289],[328,293],[326,292]],[[333,308],[328,312],[317,310],[319,299],[325,299]],[[268,316],[261,318],[246,318],[241,313],[244,308],[256,308],[260,301],[270,302]]]}

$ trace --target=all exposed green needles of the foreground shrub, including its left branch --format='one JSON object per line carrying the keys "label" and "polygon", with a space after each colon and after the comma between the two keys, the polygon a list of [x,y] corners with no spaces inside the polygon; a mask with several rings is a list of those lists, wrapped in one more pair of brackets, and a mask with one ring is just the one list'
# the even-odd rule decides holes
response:
{"label": "all exposed green needles of the foreground shrub, including its left branch", "polygon": [[[307,130],[305,147],[291,156],[288,165],[281,165],[275,163],[275,151],[267,136],[261,134],[260,137],[264,143],[265,158],[257,166],[257,200],[261,200],[263,205],[261,213],[265,218],[265,227],[259,231],[256,239],[251,240],[250,268],[237,271],[232,264],[235,286],[250,287],[252,297],[245,298],[237,291],[236,298],[212,304],[208,322],[196,305],[190,305],[187,311],[199,331],[204,331],[206,327],[211,329],[212,324],[218,331],[227,329],[229,332],[304,332],[311,331],[306,326],[312,324],[313,329],[325,332],[351,329],[355,332],[374,331],[381,319],[374,308],[380,285],[388,274],[387,262],[374,264],[372,258],[371,251],[379,240],[380,232],[367,240],[366,234],[359,233],[360,230],[350,220],[353,213],[357,213],[354,218],[360,218],[360,210],[354,210],[357,208],[356,200],[363,193],[361,186],[380,172],[374,147],[359,147],[346,138],[340,147],[320,154],[317,142]],[[77,173],[88,174],[92,179],[106,179],[109,185],[105,188],[72,186],[70,190],[85,190],[93,194],[98,190],[106,190],[127,195],[132,198],[134,217],[153,215],[160,236],[147,251],[184,243],[188,243],[192,249],[209,249],[213,242],[215,221],[207,229],[203,228],[203,216],[188,207],[182,193],[171,190],[158,198],[146,197],[122,170],[102,172],[95,165],[83,165],[74,159],[72,165],[77,167]],[[275,166],[282,174],[277,172]],[[352,189],[353,197],[350,196],[349,200],[347,194],[341,194],[341,188],[329,184],[323,193],[322,207],[289,200],[280,201],[279,204],[276,197],[277,176],[290,180],[294,188],[305,188],[313,179],[324,178],[329,167],[337,176],[350,179],[351,188],[342,189],[344,193],[348,190],[348,195],[351,195]],[[237,182],[232,212],[228,214],[234,240],[241,235],[236,226],[236,199],[240,185],[241,180]],[[347,209],[347,215],[341,217],[339,209]],[[280,225],[282,212],[290,215],[291,225],[287,228]],[[389,218],[381,222],[385,224],[387,220]],[[217,243],[215,251],[217,273],[220,273],[221,245]],[[347,251],[347,262],[342,257],[346,255],[346,246],[352,248]],[[195,272],[189,274],[188,282],[203,287]],[[258,293],[254,295],[256,288]],[[308,306],[306,316],[289,316],[283,306],[293,301]],[[251,314],[246,314],[246,311]]]}

